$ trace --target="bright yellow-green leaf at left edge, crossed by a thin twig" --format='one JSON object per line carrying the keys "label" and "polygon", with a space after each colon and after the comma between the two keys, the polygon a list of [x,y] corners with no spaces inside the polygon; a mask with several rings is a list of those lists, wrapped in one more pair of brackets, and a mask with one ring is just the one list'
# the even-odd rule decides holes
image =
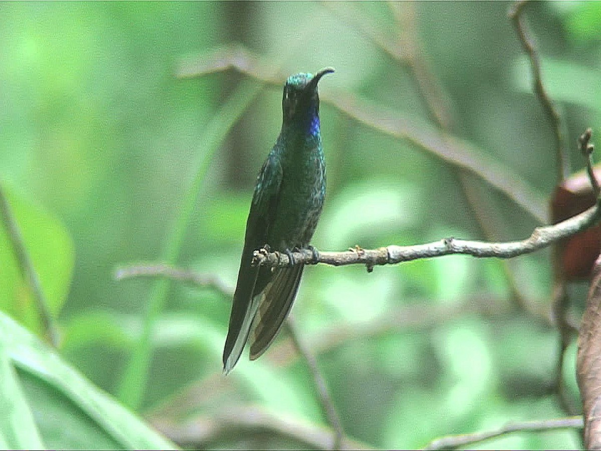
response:
{"label": "bright yellow-green leaf at left edge, crossed by a thin twig", "polygon": [[[2,185],[26,251],[33,262],[48,308],[56,316],[69,292],[75,261],[73,243],[58,219]],[[0,224],[0,308],[34,333],[40,333],[40,315],[28,282],[23,280],[4,224]]]}

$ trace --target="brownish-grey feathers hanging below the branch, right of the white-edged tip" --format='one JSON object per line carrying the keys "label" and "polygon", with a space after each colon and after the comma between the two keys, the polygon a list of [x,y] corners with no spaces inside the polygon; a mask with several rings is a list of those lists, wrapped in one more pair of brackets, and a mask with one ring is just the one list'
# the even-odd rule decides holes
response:
{"label": "brownish-grey feathers hanging below the branch, right of the white-edged tip", "polygon": [[304,265],[278,269],[261,293],[251,338],[251,360],[258,358],[275,339],[296,296]]}

